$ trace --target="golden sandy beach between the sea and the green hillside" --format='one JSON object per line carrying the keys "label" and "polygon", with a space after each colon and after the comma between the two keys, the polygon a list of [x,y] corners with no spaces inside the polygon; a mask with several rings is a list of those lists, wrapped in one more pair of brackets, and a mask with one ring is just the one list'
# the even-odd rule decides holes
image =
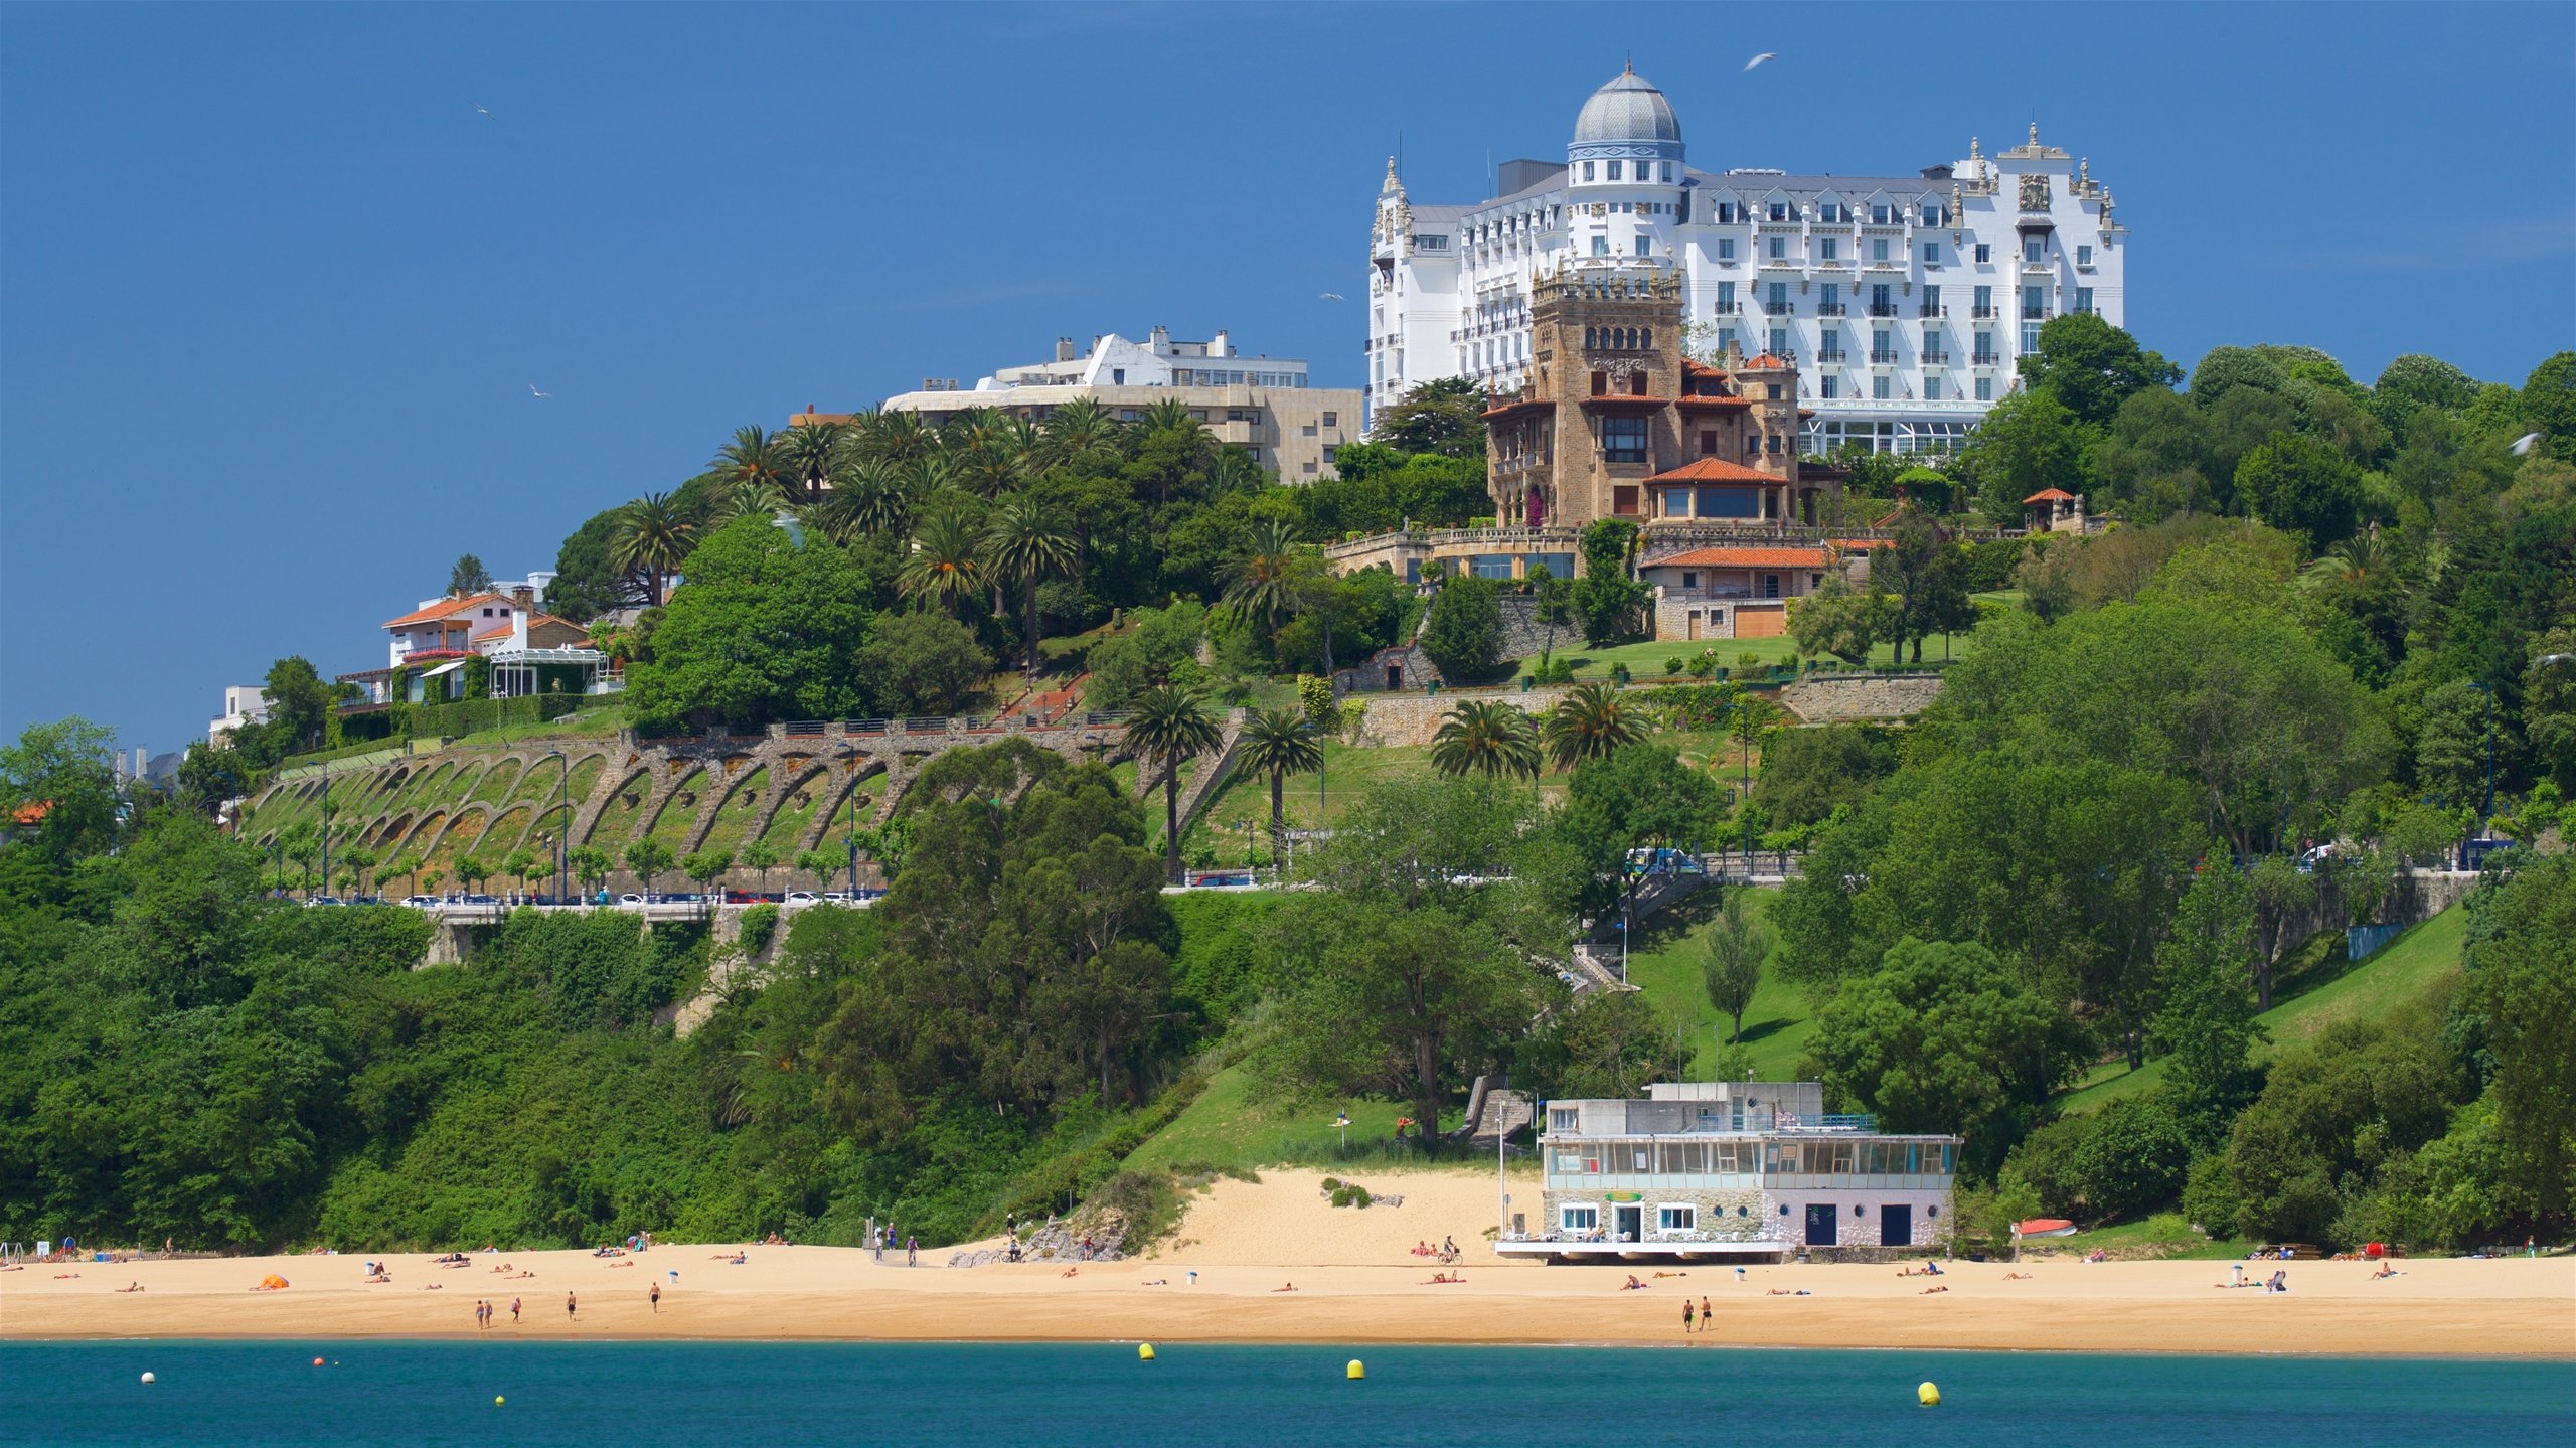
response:
{"label": "golden sandy beach between the sea and the green hillside", "polygon": [[[492,1335],[989,1342],[1597,1342],[1772,1348],[1981,1348],[2099,1353],[2326,1353],[2576,1358],[2576,1260],[2287,1262],[2290,1291],[2233,1291],[2228,1262],[1953,1262],[1942,1278],[1896,1268],[1651,1265],[1543,1268],[1494,1260],[1484,1237],[1494,1180],[1368,1172],[1401,1206],[1332,1208],[1316,1172],[1216,1183],[1159,1255],[1131,1262],[904,1268],[850,1247],[657,1244],[590,1252],[474,1252],[438,1268],[389,1257],[392,1283],[337,1255],[28,1265],[0,1273],[0,1340],[36,1337],[469,1337]],[[1515,1183],[1535,1201],[1535,1183]],[[1455,1237],[1463,1283],[1412,1257]],[[510,1270],[502,1273],[500,1268]],[[2267,1265],[2264,1275],[2277,1268]],[[1623,1291],[1628,1273],[1643,1291]],[[1672,1268],[1667,1268],[1672,1270]],[[2246,1268],[2254,1275],[2254,1265]],[[77,1275],[64,1275],[77,1273]],[[252,1291],[263,1275],[283,1291]],[[675,1273],[675,1275],[672,1275]],[[2027,1278],[2007,1278],[2027,1273]],[[144,1291],[118,1291],[142,1283]],[[662,1286],[659,1309],[647,1288]],[[1278,1291],[1293,1283],[1296,1291]],[[1947,1291],[1924,1293],[1927,1286]],[[1775,1293],[1803,1296],[1775,1296]],[[577,1314],[564,1311],[567,1293]],[[1713,1329],[1682,1335],[1682,1296]],[[520,1319],[510,1319],[510,1301]]]}

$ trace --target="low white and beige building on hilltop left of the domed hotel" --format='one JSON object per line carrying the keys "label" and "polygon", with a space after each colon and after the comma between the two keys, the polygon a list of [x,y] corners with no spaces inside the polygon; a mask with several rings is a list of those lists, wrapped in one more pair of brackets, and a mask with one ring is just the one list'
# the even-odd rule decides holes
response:
{"label": "low white and beige building on hilltop left of the domed hotel", "polygon": [[[1311,386],[1303,358],[1244,356],[1224,330],[1206,343],[1185,343],[1170,327],[1154,327],[1141,343],[1097,335],[1090,350],[1056,338],[1054,358],[994,368],[974,386],[922,379],[917,392],[889,397],[884,412],[917,412],[938,425],[969,407],[989,407],[1043,423],[1074,399],[1092,399],[1126,423],[1157,402],[1180,402],[1218,443],[1242,448],[1280,482],[1334,477],[1334,453],[1363,435],[1365,405],[1358,389]],[[788,417],[791,425],[811,420],[848,415],[809,407]]]}

